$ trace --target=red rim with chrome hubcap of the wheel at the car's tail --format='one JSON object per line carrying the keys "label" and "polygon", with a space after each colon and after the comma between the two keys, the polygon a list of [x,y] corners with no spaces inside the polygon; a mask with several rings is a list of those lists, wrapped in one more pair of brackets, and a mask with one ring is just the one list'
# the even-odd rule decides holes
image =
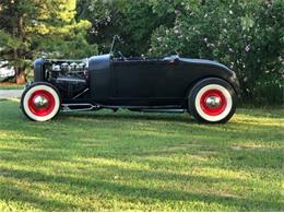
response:
{"label": "red rim with chrome hubcap of the wheel at the car's tail", "polygon": [[225,95],[218,90],[209,90],[200,98],[202,110],[209,116],[218,116],[227,106]]}

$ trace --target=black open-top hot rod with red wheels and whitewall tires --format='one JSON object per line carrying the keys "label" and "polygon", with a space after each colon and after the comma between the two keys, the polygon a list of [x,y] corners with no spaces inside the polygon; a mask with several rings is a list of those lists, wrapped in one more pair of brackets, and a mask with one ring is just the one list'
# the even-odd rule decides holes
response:
{"label": "black open-top hot rod with red wheels and whitewall tires", "polygon": [[37,59],[34,82],[21,98],[25,116],[46,121],[60,110],[126,108],[188,111],[202,122],[226,122],[234,115],[239,84],[227,67],[177,55],[115,57],[114,43],[110,54],[85,60]]}

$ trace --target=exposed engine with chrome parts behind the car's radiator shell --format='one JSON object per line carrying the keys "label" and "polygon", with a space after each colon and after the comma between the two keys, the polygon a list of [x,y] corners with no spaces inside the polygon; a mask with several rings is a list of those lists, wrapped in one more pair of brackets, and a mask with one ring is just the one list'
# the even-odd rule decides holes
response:
{"label": "exposed engine with chrome parts behind the car's radiator shell", "polygon": [[87,60],[49,61],[46,79],[54,84],[62,98],[74,98],[88,90]]}

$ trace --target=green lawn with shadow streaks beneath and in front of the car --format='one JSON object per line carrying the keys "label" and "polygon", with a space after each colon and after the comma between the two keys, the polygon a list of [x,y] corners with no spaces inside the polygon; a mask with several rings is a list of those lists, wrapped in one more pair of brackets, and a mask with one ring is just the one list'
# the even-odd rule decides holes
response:
{"label": "green lawn with shadow streaks beneath and in front of the car", "polygon": [[60,114],[0,100],[0,211],[284,211],[284,109]]}

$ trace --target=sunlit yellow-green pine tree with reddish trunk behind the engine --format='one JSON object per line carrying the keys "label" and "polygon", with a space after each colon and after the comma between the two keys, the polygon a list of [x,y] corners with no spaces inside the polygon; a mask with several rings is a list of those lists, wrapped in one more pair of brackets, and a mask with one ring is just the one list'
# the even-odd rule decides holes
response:
{"label": "sunlit yellow-green pine tree with reddish trunk behind the engine", "polygon": [[[88,21],[76,22],[75,0],[2,0],[0,3],[0,58],[15,69],[16,83],[43,54],[49,57],[82,57],[94,51],[85,32]],[[82,50],[84,49],[84,51]]]}

